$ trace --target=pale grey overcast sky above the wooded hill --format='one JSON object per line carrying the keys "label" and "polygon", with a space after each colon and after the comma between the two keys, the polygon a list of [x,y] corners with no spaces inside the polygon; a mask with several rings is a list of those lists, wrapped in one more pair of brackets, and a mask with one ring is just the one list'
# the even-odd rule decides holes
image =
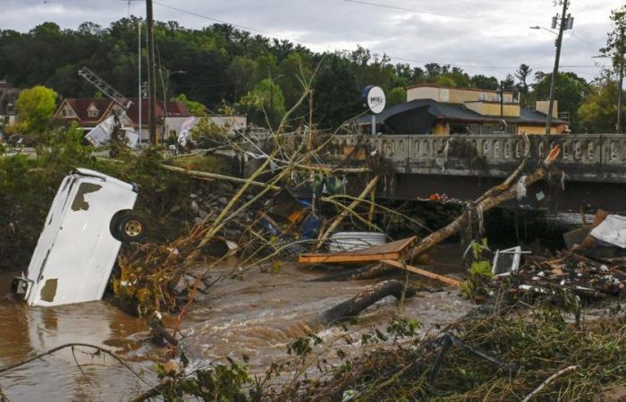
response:
{"label": "pale grey overcast sky above the wooded hill", "polygon": [[[555,36],[529,27],[549,28],[561,10],[553,0],[155,1],[157,20],[189,28],[216,19],[317,51],[361,45],[390,55],[394,63],[447,63],[498,78],[520,63],[534,71],[552,71]],[[145,4],[139,1],[0,0],[0,5],[0,29],[20,31],[44,21],[62,28],[76,28],[83,21],[106,27],[129,14],[145,17]],[[564,35],[562,71],[575,71],[587,80],[596,76],[593,66],[603,61],[591,57],[605,44],[612,29],[611,10],[620,5],[616,0],[571,0],[575,22]]]}

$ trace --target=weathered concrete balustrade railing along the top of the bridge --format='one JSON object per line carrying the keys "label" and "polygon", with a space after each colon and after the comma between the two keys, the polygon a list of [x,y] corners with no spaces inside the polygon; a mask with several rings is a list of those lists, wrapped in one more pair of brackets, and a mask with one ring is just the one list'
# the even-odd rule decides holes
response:
{"label": "weathered concrete balustrade railing along the top of the bridge", "polygon": [[[536,161],[550,147],[561,145],[558,166],[572,179],[626,181],[626,135],[536,135],[529,139],[530,159]],[[335,141],[342,146],[366,144],[405,173],[505,176],[524,152],[523,138],[511,134],[348,135],[336,136]],[[341,152],[337,149],[337,156]]]}

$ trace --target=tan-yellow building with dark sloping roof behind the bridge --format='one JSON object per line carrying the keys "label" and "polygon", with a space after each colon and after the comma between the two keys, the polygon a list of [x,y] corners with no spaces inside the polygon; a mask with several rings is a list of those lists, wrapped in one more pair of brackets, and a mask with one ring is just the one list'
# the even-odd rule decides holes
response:
{"label": "tan-yellow building with dark sloping roof behind the bridge", "polygon": [[[513,92],[451,88],[420,84],[407,88],[408,102],[376,115],[376,131],[386,134],[544,134],[547,101],[521,107]],[[552,134],[563,134],[568,122],[557,118],[554,101]],[[371,117],[359,119],[360,130],[371,131]]]}

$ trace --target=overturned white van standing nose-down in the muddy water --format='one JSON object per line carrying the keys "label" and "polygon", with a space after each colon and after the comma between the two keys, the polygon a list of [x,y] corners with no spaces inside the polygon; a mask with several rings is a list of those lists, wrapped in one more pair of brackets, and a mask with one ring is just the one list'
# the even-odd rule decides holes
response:
{"label": "overturned white van standing nose-down in the muddy water", "polygon": [[30,306],[102,298],[122,242],[139,240],[145,224],[131,214],[137,187],[100,172],[66,176],[47,214],[28,272],[13,293]]}

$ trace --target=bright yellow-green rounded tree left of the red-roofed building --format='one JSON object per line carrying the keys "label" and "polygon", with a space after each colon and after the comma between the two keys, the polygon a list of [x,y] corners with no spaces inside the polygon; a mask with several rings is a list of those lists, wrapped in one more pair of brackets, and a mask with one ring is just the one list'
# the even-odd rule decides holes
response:
{"label": "bright yellow-green rounded tree left of the red-roofed building", "polygon": [[19,121],[32,133],[43,133],[55,113],[56,92],[38,85],[24,89],[15,101]]}

